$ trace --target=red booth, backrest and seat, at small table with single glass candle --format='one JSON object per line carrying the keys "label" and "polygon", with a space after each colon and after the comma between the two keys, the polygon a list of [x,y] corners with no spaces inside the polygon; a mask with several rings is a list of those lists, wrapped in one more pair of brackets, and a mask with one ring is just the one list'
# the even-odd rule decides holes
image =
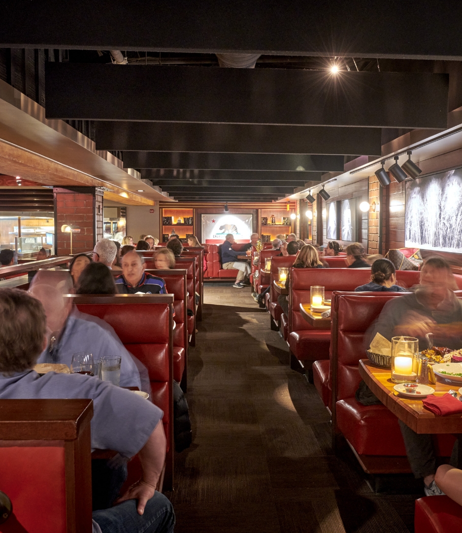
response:
{"label": "red booth, backrest and seat, at small table with single glass candle", "polygon": [[328,359],[331,332],[316,329],[308,324],[300,313],[300,304],[310,301],[311,285],[324,287],[325,298],[331,298],[334,290],[354,290],[370,280],[368,269],[301,269],[289,270],[288,344],[291,365],[311,369],[314,361]]}

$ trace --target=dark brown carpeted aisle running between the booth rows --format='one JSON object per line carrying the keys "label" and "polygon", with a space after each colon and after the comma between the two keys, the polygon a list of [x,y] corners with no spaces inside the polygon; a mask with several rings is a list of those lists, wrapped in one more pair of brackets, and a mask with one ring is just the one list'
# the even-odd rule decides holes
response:
{"label": "dark brown carpeted aisle running between the booth rows", "polygon": [[167,496],[176,533],[407,533],[416,495],[374,494],[327,411],[287,364],[248,289],[208,285],[189,353],[193,444]]}

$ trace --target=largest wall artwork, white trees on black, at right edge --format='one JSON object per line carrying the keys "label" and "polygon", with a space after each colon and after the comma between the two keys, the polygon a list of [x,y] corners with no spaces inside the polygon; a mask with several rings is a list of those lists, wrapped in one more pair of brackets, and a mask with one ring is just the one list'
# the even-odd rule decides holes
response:
{"label": "largest wall artwork, white trees on black, at right edge", "polygon": [[462,168],[406,182],[405,245],[462,252]]}

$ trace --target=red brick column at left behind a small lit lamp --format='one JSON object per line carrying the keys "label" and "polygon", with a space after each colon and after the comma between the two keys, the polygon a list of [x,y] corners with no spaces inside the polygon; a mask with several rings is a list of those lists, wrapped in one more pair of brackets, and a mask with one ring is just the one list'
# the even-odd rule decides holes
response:
{"label": "red brick column at left behind a small lit lamp", "polygon": [[96,241],[103,238],[103,192],[96,187],[55,187],[55,253],[71,253],[70,233],[63,233],[63,224],[75,224],[80,233],[72,235],[72,253],[91,252]]}

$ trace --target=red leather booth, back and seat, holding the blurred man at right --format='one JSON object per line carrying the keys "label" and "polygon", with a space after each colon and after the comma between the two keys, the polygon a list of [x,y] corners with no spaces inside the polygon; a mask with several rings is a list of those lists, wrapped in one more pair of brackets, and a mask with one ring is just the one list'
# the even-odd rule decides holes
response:
{"label": "red leather booth, back and seat, holding the blurred man at right", "polygon": [[[406,293],[342,293],[332,300],[332,429],[343,434],[367,473],[410,472],[398,418],[382,403],[364,406],[354,394],[366,358],[364,335],[386,302]],[[451,455],[455,438],[435,435],[439,456]]]}

